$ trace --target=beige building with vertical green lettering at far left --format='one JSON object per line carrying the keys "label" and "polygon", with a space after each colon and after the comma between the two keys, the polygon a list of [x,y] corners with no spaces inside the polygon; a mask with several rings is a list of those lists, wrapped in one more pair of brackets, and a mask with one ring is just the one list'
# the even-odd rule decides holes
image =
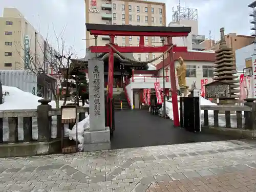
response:
{"label": "beige building with vertical green lettering at far left", "polygon": [[24,70],[45,66],[46,50],[52,49],[16,8],[4,8],[0,17],[0,69]]}

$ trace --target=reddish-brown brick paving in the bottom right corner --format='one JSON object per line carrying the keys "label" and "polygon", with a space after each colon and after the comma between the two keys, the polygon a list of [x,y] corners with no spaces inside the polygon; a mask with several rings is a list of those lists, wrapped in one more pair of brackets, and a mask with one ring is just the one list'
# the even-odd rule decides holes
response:
{"label": "reddish-brown brick paving in the bottom right corner", "polygon": [[256,191],[256,170],[246,169],[234,173],[205,176],[192,179],[152,183],[146,192],[244,192]]}

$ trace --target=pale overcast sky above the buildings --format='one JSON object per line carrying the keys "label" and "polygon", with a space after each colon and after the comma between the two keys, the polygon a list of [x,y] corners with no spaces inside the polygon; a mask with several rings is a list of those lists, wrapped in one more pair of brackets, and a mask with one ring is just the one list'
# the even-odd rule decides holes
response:
{"label": "pale overcast sky above the buildings", "polygon": [[[86,0],[89,1],[89,0]],[[98,0],[102,1],[102,0]],[[178,0],[155,0],[165,2],[167,23],[172,20],[172,7],[178,4]],[[249,35],[248,8],[253,0],[181,0],[181,6],[198,9],[199,34],[219,40],[219,29],[225,27],[225,33],[238,33]],[[0,0],[0,14],[4,7],[15,7],[40,33],[50,39],[56,46],[53,27],[60,34],[66,26],[64,38],[68,46],[74,45],[79,57],[84,56],[86,43],[83,38],[85,23],[84,0]]]}

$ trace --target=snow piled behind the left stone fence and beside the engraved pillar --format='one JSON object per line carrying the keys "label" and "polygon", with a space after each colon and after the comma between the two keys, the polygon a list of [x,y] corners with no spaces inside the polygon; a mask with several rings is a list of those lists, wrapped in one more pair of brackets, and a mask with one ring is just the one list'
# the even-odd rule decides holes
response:
{"label": "snow piled behind the left stone fence and beside the engraved pillar", "polygon": [[[4,97],[4,103],[0,105],[0,111],[6,110],[31,110],[37,109],[37,106],[40,104],[38,102],[41,97],[37,97],[32,93],[24,92],[15,87],[2,86],[3,93],[8,93]],[[67,101],[67,103],[72,103]],[[56,108],[55,101],[49,103],[52,105],[52,108]],[[59,101],[61,106],[63,101]],[[89,105],[86,105],[89,106]],[[78,123],[78,142],[83,143],[83,130],[84,127],[89,126],[89,116],[87,115],[85,119]],[[68,124],[65,124],[65,136],[70,139],[75,140],[75,126],[72,130],[68,128]],[[57,117],[52,116],[52,138],[57,137]],[[22,141],[24,138],[23,135],[23,118],[18,118],[18,140]],[[32,138],[37,140],[38,138],[38,128],[37,128],[37,117],[32,118]],[[9,125],[8,118],[3,119],[3,140],[8,141],[9,139]]]}

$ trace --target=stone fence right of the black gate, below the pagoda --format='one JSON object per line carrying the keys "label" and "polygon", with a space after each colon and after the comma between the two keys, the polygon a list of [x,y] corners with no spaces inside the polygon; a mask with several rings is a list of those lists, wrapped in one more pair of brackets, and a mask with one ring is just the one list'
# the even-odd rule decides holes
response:
{"label": "stone fence right of the black gate, below the pagoda", "polygon": [[[225,127],[256,130],[256,103],[252,100],[241,105],[201,105],[203,127]],[[202,116],[201,116],[202,117]]]}

